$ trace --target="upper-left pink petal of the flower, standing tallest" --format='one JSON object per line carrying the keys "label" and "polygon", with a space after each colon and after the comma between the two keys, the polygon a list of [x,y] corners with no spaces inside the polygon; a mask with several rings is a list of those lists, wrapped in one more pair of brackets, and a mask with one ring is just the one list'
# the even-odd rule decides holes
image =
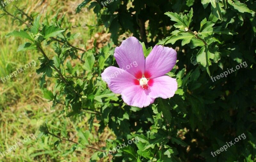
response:
{"label": "upper-left pink petal of the flower, standing tallest", "polygon": [[120,47],[116,47],[114,57],[121,69],[137,78],[141,78],[144,72],[145,58],[142,46],[137,38],[129,37],[125,39]]}

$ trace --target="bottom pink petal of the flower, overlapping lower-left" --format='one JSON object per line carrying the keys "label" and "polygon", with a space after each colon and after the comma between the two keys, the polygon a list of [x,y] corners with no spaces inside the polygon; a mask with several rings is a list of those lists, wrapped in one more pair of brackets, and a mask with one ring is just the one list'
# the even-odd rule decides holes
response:
{"label": "bottom pink petal of the flower, overlapping lower-left", "polygon": [[124,89],[121,95],[125,103],[139,108],[146,107],[155,100],[149,96],[149,90],[143,90],[139,85]]}

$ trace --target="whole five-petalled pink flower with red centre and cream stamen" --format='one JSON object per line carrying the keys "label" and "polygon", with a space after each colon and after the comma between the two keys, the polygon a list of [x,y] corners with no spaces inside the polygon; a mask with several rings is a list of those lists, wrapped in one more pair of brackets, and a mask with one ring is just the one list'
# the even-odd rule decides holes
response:
{"label": "whole five-petalled pink flower with red centre and cream stamen", "polygon": [[157,97],[172,97],[177,90],[176,79],[165,75],[176,63],[174,49],[155,46],[145,60],[139,40],[129,37],[116,47],[114,57],[120,68],[108,67],[101,76],[112,92],[122,95],[126,104],[143,108]]}

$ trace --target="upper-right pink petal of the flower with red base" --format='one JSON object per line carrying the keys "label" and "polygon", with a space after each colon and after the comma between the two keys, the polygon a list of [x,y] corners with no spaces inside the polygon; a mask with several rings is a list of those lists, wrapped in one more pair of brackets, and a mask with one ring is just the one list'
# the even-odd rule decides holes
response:
{"label": "upper-right pink petal of the flower with red base", "polygon": [[177,60],[177,52],[169,47],[155,46],[146,58],[147,78],[156,78],[172,70]]}

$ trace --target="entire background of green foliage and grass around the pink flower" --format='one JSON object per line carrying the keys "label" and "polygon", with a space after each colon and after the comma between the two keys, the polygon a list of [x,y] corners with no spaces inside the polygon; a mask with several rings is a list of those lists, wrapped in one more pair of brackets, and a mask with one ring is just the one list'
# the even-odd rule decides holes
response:
{"label": "entire background of green foliage and grass around the pink flower", "polygon": [[[38,137],[1,160],[256,161],[256,2],[100,2],[13,1],[1,8],[0,76],[37,64],[0,83],[0,151]],[[177,51],[168,73],[178,82],[174,97],[139,109],[102,81],[106,67],[118,67],[114,49],[129,36],[142,42],[145,56],[156,44]],[[212,82],[244,61],[247,67]],[[242,133],[246,139],[212,157]],[[140,142],[103,156],[136,136]]]}

